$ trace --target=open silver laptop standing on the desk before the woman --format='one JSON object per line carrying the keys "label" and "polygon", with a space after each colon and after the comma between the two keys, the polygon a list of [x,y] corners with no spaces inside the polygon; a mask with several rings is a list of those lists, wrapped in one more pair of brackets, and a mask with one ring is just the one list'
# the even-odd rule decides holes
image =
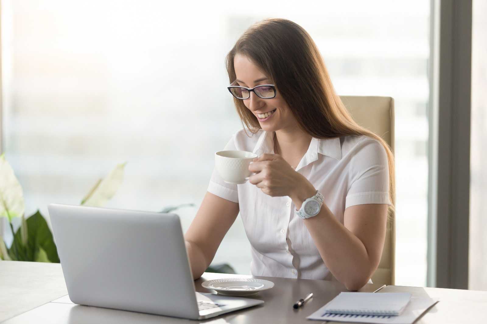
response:
{"label": "open silver laptop standing on the desk before the woman", "polygon": [[75,304],[202,320],[262,300],[195,292],[179,217],[48,205]]}

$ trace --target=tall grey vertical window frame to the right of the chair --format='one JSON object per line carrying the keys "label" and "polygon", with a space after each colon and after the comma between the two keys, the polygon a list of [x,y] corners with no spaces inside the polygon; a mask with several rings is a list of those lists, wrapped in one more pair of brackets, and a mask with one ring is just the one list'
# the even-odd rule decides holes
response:
{"label": "tall grey vertical window frame to the right of the chair", "polygon": [[430,17],[427,286],[468,289],[472,0]]}

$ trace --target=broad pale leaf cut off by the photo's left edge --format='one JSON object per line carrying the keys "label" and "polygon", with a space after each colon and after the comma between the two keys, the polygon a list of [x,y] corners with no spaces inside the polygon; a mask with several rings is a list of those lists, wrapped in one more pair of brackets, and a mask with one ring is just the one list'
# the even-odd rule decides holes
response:
{"label": "broad pale leaf cut off by the photo's left edge", "polygon": [[0,217],[7,217],[12,222],[14,217],[24,214],[24,194],[19,180],[12,167],[5,160],[4,154],[0,155]]}

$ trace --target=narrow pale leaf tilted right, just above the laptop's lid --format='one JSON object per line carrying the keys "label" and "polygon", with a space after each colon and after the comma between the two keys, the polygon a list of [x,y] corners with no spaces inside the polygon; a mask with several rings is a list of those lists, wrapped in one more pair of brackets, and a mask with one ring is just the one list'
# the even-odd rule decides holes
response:
{"label": "narrow pale leaf tilted right, just above the laptop's lid", "polygon": [[88,195],[81,201],[81,205],[94,207],[105,205],[122,184],[126,164],[126,162],[117,164],[105,179],[98,180]]}

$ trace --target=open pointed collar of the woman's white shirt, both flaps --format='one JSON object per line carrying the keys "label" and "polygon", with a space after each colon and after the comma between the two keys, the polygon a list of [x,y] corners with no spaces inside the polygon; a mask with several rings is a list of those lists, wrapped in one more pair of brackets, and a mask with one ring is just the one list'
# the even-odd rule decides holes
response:
{"label": "open pointed collar of the woman's white shirt, both flaps", "polygon": [[[263,153],[274,153],[273,132],[262,131],[252,152],[256,153],[258,156]],[[309,144],[308,151],[304,154],[296,170],[318,160],[318,153],[333,157],[336,160],[341,159],[340,138],[320,139],[313,137]]]}

